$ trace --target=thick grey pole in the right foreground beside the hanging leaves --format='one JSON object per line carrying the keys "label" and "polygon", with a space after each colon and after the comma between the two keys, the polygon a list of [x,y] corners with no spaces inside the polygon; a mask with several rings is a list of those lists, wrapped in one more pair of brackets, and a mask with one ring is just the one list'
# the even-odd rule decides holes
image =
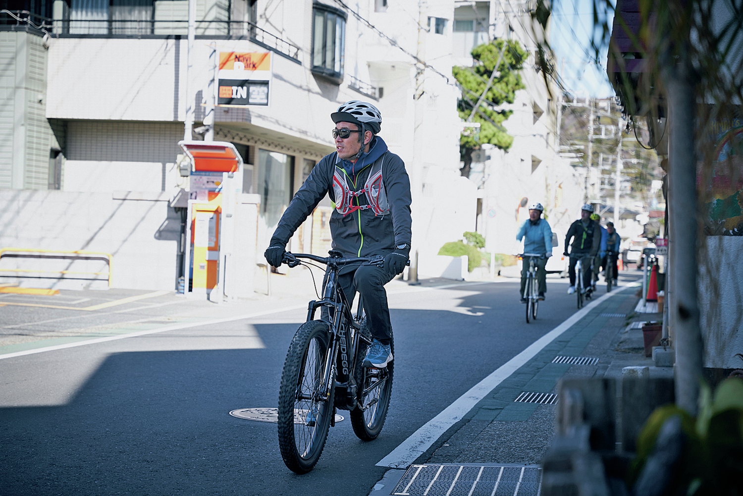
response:
{"label": "thick grey pole in the right foreground beside the hanging leaves", "polygon": [[669,227],[673,301],[669,325],[676,351],[676,405],[697,413],[702,340],[697,300],[695,92],[687,62],[666,71],[669,103]]}

